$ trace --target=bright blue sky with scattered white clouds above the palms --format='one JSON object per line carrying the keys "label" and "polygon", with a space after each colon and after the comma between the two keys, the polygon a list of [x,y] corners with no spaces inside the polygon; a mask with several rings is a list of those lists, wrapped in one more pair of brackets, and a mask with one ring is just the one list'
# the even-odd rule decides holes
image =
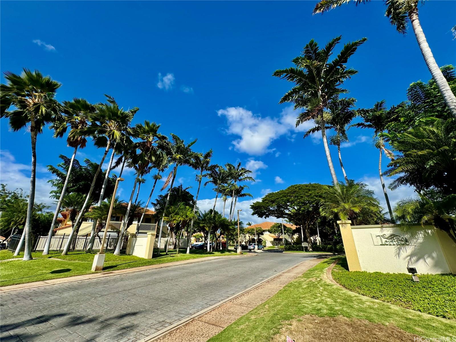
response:
{"label": "bright blue sky with scattered white clouds above the palms", "polygon": [[[311,125],[296,129],[290,105],[278,104],[291,84],[271,76],[291,66],[290,60],[311,38],[320,45],[338,35],[344,42],[368,38],[349,61],[359,73],[345,84],[358,107],[371,107],[381,99],[397,104],[405,99],[410,83],[430,78],[413,31],[406,36],[396,32],[384,16],[383,2],[312,16],[314,5],[2,1],[0,70],[20,73],[27,67],[51,75],[63,84],[59,100],[83,97],[96,103],[107,93],[125,108],[139,107],[135,123],[155,121],[165,135],[197,138],[197,151],[212,148],[214,163],[240,161],[254,170],[257,181],[249,186],[258,200],[291,184],[331,182],[321,137],[302,139]],[[456,1],[428,1],[420,7],[421,25],[439,65],[456,63],[451,34],[455,17]],[[26,190],[29,135],[10,132],[5,120],[0,125],[1,182]],[[383,201],[372,132],[351,129],[349,137],[350,144],[342,148],[348,177],[366,181]],[[37,201],[52,203],[45,166],[55,165],[59,154],[71,153],[65,140],[53,139],[49,130],[38,137]],[[102,153],[88,144],[78,159],[99,161]],[[334,149],[332,156],[342,179]],[[125,176],[120,195],[127,199],[133,173]],[[192,170],[183,167],[177,177],[196,193]],[[143,200],[151,183],[142,188]],[[390,196],[396,201],[410,194],[410,189],[401,188]],[[202,189],[200,206],[212,207],[214,197],[210,188]],[[249,215],[251,202],[240,203],[241,219],[260,222]]]}

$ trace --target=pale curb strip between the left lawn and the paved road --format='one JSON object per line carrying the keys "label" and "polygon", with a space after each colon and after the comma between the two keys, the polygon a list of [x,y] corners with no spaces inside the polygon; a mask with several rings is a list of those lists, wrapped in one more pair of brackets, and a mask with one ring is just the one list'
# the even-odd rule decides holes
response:
{"label": "pale curb strip between the left lawn and the paved road", "polygon": [[118,269],[115,271],[90,273],[87,275],[74,275],[72,277],[67,277],[67,278],[57,278],[57,279],[52,279],[52,280],[35,281],[32,283],[0,286],[0,294],[5,293],[5,292],[10,292],[10,291],[32,289],[32,288],[47,286],[47,285],[59,285],[59,284],[71,283],[73,281],[79,281],[79,280],[97,279],[97,278],[110,277],[113,275],[123,275],[123,274],[127,274],[127,273],[148,271],[151,269],[163,269],[163,268],[167,268],[167,267],[174,267],[174,266],[180,266],[180,265],[186,265],[186,264],[195,264],[195,263],[210,261],[210,260],[214,260],[214,259],[243,258],[243,257],[252,257],[255,255],[257,255],[257,254],[203,257],[203,258],[197,258],[196,260],[190,259],[190,260],[183,260],[183,261],[171,261],[169,263],[155,264],[155,265],[149,265],[149,266],[140,266],[140,267],[135,267],[135,268],[131,268],[131,269]]}

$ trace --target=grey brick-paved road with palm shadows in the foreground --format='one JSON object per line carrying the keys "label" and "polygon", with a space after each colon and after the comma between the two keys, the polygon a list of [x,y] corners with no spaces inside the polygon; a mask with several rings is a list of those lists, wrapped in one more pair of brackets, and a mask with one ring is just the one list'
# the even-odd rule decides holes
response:
{"label": "grey brick-paved road with palm shadows in the foreground", "polygon": [[6,292],[0,338],[137,341],[313,257],[264,252]]}

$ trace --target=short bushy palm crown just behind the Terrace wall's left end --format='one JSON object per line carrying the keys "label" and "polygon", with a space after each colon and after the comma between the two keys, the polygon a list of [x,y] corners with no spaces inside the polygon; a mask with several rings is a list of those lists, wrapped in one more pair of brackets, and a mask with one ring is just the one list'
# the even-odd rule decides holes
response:
{"label": "short bushy palm crown just behind the Terrace wall's left end", "polygon": [[320,207],[323,216],[337,216],[340,220],[352,220],[354,224],[372,224],[372,221],[378,220],[381,210],[373,191],[366,184],[354,181],[347,184],[340,182],[338,187],[327,187]]}

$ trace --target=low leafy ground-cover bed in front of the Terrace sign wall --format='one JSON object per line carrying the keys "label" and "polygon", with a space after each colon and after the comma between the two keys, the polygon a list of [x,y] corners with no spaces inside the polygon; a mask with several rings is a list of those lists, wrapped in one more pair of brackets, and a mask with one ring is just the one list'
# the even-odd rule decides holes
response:
{"label": "low leafy ground-cover bed in front of the Terrace sign wall", "polygon": [[456,275],[420,275],[420,282],[415,283],[408,274],[349,272],[344,258],[332,269],[332,277],[361,295],[456,319]]}

